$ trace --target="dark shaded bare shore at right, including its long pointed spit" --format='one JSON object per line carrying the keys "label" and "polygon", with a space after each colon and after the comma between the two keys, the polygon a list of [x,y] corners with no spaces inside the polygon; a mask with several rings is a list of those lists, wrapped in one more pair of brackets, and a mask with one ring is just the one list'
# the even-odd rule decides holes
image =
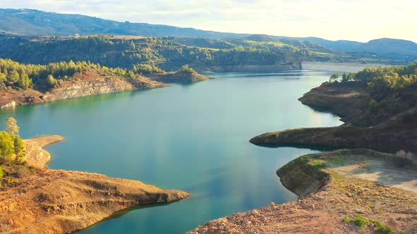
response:
{"label": "dark shaded bare shore at right, including its long pointed spit", "polygon": [[401,149],[417,152],[417,106],[415,87],[389,99],[383,112],[369,111],[370,95],[360,86],[324,84],[300,101],[327,109],[346,123],[332,128],[298,128],[253,137],[253,144],[272,147],[368,148],[382,152]]}

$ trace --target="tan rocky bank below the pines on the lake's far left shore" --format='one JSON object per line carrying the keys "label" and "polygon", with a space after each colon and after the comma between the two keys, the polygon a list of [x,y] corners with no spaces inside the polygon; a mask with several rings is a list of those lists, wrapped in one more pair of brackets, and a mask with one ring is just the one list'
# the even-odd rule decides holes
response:
{"label": "tan rocky bank below the pines on the lake's far left shore", "polygon": [[26,104],[40,104],[49,101],[86,97],[113,92],[130,90],[148,90],[169,86],[170,82],[199,82],[211,78],[198,73],[162,73],[150,75],[149,78],[141,77],[126,80],[103,76],[95,70],[76,73],[74,78],[63,82],[59,87],[47,92],[36,90],[8,90],[0,92],[0,109],[11,108]]}

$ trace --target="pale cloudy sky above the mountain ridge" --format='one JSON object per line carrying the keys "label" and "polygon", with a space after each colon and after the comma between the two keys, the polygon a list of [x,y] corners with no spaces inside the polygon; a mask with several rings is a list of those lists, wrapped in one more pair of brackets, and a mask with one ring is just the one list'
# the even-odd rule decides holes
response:
{"label": "pale cloudy sky above the mountain ridge", "polygon": [[1,0],[0,8],[218,32],[417,42],[416,0]]}

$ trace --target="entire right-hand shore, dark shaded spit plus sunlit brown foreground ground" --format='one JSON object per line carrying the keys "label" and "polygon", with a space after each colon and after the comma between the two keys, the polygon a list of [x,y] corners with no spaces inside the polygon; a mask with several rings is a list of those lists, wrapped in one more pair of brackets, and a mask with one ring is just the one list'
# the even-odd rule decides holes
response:
{"label": "entire right-hand shore, dark shaded spit plus sunlit brown foreground ground", "polygon": [[[260,146],[353,148],[300,156],[276,172],[298,201],[271,204],[199,226],[189,233],[413,233],[417,230],[415,85],[370,111],[372,98],[360,85],[324,83],[300,101],[330,111],[345,123],[299,128],[253,137]],[[367,149],[355,149],[367,148]]]}

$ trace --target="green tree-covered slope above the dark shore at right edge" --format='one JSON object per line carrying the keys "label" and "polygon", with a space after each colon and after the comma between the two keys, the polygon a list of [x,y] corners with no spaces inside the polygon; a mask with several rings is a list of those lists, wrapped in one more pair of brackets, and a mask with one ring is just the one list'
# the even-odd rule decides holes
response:
{"label": "green tree-covered slope above the dark shore at right edge", "polygon": [[[417,61],[408,66],[365,68],[358,73],[331,75],[330,86],[363,87],[370,95],[365,112],[376,121],[417,107]],[[405,121],[415,121],[416,111],[404,114]],[[365,118],[365,117],[364,117]]]}

